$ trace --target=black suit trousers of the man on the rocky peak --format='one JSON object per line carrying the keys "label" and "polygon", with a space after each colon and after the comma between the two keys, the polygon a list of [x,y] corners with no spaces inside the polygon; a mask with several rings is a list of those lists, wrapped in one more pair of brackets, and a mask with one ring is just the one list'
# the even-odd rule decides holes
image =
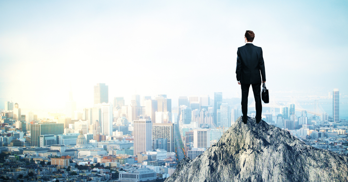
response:
{"label": "black suit trousers of the man on the rocky peak", "polygon": [[253,88],[254,98],[255,98],[255,109],[256,109],[256,121],[261,120],[261,112],[262,112],[262,103],[261,103],[261,83],[260,84],[240,84],[242,88],[242,113],[243,120],[247,120],[248,114],[248,95],[250,85]]}

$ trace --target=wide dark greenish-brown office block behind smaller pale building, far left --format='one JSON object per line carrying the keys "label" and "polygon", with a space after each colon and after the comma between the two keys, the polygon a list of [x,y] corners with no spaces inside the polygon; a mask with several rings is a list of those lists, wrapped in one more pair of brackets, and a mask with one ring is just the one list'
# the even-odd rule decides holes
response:
{"label": "wide dark greenish-brown office block behind smaller pale building, far left", "polygon": [[43,122],[39,124],[29,124],[31,135],[31,147],[40,146],[40,135],[61,135],[64,132],[62,123]]}

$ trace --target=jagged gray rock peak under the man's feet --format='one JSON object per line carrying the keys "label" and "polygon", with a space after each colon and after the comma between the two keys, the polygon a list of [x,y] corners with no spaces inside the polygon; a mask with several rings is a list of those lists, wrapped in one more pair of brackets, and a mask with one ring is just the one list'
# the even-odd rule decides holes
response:
{"label": "jagged gray rock peak under the man's feet", "polygon": [[344,182],[348,157],[313,148],[286,130],[241,118],[196,159],[182,159],[165,182]]}

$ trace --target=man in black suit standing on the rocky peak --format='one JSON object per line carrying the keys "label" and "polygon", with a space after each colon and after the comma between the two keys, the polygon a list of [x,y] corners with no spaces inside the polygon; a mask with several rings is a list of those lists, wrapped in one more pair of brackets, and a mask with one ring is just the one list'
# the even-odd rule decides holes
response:
{"label": "man in black suit standing on the rocky peak", "polygon": [[[242,113],[243,122],[248,120],[248,95],[250,85],[253,88],[256,109],[256,123],[261,121],[261,77],[262,82],[266,82],[266,73],[262,56],[262,48],[253,45],[255,34],[253,31],[245,31],[245,45],[238,47],[237,51],[237,81],[242,88]],[[261,72],[261,74],[260,74]]]}

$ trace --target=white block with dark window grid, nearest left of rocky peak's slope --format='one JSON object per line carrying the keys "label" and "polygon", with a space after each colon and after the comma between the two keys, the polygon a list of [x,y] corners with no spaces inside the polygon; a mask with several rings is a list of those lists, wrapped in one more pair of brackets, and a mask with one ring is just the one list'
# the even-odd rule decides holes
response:
{"label": "white block with dark window grid, nearest left of rocky peak's slope", "polygon": [[210,129],[193,129],[193,148],[210,147]]}

